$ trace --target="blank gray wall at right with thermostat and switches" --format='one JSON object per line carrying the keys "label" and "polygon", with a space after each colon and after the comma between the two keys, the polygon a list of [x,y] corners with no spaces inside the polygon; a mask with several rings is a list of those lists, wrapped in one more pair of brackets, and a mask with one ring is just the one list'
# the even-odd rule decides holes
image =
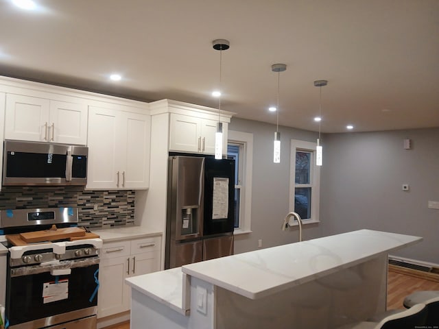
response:
{"label": "blank gray wall at right with thermostat and switches", "polygon": [[[412,139],[412,149],[403,140]],[[329,134],[323,138],[324,235],[369,228],[423,236],[392,254],[439,263],[439,128]],[[410,191],[402,185],[410,184]]]}

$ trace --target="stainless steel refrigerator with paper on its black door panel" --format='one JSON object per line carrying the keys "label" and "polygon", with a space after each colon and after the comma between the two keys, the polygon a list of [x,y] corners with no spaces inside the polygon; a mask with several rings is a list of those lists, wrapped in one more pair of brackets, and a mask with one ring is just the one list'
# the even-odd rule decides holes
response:
{"label": "stainless steel refrigerator with paper on its black door panel", "polygon": [[165,269],[233,254],[235,161],[169,156]]}

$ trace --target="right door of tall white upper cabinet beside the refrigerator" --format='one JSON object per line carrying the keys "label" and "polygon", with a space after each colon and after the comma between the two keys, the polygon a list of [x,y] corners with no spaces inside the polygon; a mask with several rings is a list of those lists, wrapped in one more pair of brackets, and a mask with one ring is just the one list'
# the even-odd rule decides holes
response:
{"label": "right door of tall white upper cabinet beside the refrigerator", "polygon": [[149,115],[128,112],[123,117],[121,141],[124,141],[124,145],[120,151],[126,157],[126,162],[121,169],[121,187],[148,188],[151,118]]}

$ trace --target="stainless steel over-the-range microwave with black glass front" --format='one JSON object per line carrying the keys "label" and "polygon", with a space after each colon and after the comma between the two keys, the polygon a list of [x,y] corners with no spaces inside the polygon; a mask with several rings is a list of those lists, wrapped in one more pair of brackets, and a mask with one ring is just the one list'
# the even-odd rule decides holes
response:
{"label": "stainless steel over-the-range microwave with black glass front", "polygon": [[4,141],[3,186],[85,185],[88,147]]}

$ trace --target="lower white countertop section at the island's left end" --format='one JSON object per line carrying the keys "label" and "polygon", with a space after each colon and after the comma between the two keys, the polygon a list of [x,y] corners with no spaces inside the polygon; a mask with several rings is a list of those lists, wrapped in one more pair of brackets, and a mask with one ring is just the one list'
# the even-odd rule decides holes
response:
{"label": "lower white countertop section at the island's left end", "polygon": [[186,315],[190,303],[186,298],[189,295],[186,296],[185,293],[189,284],[183,284],[184,280],[187,278],[181,267],[125,279],[132,288]]}

